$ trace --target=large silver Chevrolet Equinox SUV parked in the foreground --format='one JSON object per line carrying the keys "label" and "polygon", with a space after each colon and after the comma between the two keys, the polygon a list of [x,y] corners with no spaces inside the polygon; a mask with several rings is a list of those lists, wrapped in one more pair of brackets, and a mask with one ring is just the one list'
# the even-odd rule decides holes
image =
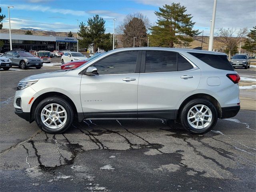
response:
{"label": "large silver Chevrolet Equinox SUV parked in the foreground", "polygon": [[15,113],[56,134],[74,119],[167,119],[204,134],[240,110],[226,54],[175,48],[112,50],[71,70],[22,79]]}

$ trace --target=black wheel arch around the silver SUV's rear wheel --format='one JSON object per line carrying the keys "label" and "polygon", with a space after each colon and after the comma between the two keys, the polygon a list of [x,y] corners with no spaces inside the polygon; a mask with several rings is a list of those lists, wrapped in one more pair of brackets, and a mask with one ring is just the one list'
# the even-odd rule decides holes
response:
{"label": "black wheel arch around the silver SUV's rear wheel", "polygon": [[212,104],[215,106],[217,112],[218,112],[218,118],[220,118],[222,116],[222,109],[220,106],[220,103],[218,102],[218,100],[216,100],[216,98],[214,98],[213,96],[209,95],[209,94],[204,94],[204,93],[198,93],[198,94],[194,94],[189,96],[188,98],[186,98],[182,104],[180,105],[179,109],[176,111],[175,113],[175,119],[176,120],[180,120],[180,112],[182,110],[182,108],[185,106],[185,104],[192,100],[192,99],[196,99],[196,98],[204,98],[210,102],[212,102]]}

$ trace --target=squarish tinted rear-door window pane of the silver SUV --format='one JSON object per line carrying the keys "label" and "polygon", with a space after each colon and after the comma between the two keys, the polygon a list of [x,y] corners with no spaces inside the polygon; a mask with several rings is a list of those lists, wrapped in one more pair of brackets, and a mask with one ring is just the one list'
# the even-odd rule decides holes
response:
{"label": "squarish tinted rear-door window pane of the silver SUV", "polygon": [[177,54],[167,51],[146,51],[145,72],[177,71]]}

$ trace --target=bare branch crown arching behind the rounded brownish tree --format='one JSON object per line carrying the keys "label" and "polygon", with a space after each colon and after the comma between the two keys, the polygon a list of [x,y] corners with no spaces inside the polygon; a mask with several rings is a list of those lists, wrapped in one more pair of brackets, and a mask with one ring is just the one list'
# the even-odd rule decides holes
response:
{"label": "bare branch crown arching behind the rounded brownish tree", "polygon": [[129,24],[129,22],[133,19],[133,18],[138,18],[141,19],[144,23],[144,26],[146,27],[146,30],[148,31],[149,28],[151,27],[151,23],[149,21],[149,19],[144,16],[143,14],[137,12],[137,13],[133,13],[133,14],[128,14],[126,15],[126,17],[124,18],[124,20],[122,21],[122,23],[116,28],[116,32],[117,34],[123,34],[124,33],[124,29],[125,26]]}

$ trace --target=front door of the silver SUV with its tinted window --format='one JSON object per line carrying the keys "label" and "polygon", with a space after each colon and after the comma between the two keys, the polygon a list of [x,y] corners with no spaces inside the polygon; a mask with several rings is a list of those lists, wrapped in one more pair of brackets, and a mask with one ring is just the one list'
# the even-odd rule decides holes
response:
{"label": "front door of the silver SUV with its tinted window", "polygon": [[112,54],[92,65],[98,75],[82,76],[80,94],[85,118],[137,118],[140,53]]}

